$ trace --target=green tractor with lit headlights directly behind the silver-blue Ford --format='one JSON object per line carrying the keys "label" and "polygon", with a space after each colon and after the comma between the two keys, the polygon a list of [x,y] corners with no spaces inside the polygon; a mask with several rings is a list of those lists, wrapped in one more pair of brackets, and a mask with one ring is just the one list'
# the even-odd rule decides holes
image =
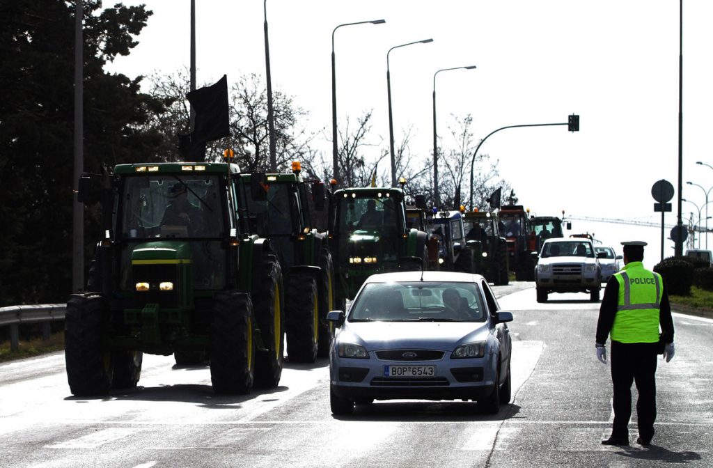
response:
{"label": "green tractor with lit headlights directly behind the silver-blue Ford", "polygon": [[336,190],[328,222],[337,308],[344,310],[370,275],[427,268],[426,233],[406,227],[401,188]]}

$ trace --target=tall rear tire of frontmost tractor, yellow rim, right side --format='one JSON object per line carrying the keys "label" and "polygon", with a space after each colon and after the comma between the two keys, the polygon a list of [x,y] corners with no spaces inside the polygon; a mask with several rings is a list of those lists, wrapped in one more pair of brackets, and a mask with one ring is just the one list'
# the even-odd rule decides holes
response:
{"label": "tall rear tire of frontmost tractor, yellow rim, right side", "polygon": [[263,260],[262,278],[253,278],[255,293],[255,320],[260,328],[262,344],[267,350],[258,350],[255,357],[255,385],[277,387],[284,363],[284,292],[282,268],[275,255]]}

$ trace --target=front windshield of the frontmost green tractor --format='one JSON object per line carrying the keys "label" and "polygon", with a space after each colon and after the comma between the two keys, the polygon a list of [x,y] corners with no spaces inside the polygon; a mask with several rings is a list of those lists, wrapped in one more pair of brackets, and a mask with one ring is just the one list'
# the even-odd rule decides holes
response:
{"label": "front windshield of the frontmost green tractor", "polygon": [[118,205],[122,238],[217,238],[224,230],[217,175],[127,177]]}

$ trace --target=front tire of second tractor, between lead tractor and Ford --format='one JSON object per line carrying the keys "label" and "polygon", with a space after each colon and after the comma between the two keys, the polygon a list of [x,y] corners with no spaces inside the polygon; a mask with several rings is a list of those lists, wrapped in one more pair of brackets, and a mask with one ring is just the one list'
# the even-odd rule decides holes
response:
{"label": "front tire of second tractor, between lead tractor and Ford", "polygon": [[295,272],[287,280],[287,357],[291,362],[314,362],[319,348],[317,280]]}

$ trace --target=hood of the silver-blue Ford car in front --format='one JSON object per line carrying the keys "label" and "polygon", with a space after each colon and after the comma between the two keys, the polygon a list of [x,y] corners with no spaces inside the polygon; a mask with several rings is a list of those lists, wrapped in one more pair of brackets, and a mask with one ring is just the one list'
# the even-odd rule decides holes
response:
{"label": "hood of the silver-blue Ford car in front", "polygon": [[339,334],[340,341],[359,343],[369,351],[404,347],[453,350],[461,343],[487,337],[485,322],[351,322]]}

